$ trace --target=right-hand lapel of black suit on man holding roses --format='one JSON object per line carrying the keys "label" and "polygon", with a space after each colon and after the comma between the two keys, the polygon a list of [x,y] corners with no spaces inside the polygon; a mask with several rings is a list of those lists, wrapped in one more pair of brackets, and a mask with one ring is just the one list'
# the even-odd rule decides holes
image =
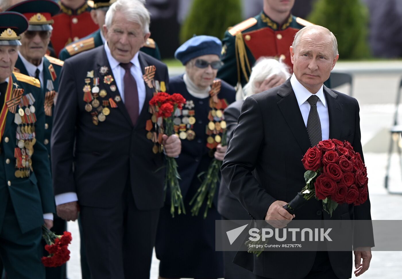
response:
{"label": "right-hand lapel of black suit on man holding roses", "polygon": [[336,100],[337,94],[324,86],[325,99],[328,105],[329,138],[340,138],[343,123],[342,105]]}

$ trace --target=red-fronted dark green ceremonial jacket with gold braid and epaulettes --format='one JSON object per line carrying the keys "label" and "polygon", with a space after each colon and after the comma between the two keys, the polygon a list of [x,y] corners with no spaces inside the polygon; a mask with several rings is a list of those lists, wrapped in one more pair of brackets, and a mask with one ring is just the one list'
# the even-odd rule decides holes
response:
{"label": "red-fronted dark green ceremonial jacket with gold braid and epaulettes", "polygon": [[232,86],[240,81],[242,86],[248,82],[251,68],[262,56],[281,58],[293,72],[289,47],[294,35],[304,26],[313,25],[299,17],[289,15],[285,24],[280,25],[267,16],[264,11],[229,28],[222,41],[222,62],[217,77]]}

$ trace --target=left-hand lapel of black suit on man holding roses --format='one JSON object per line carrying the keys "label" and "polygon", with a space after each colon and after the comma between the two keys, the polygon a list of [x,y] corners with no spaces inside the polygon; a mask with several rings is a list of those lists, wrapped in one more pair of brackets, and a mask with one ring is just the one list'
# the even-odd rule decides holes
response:
{"label": "left-hand lapel of black suit on man holding roses", "polygon": [[308,137],[303,116],[301,115],[290,79],[283,83],[283,86],[279,88],[277,94],[282,97],[282,100],[277,103],[279,110],[281,110],[283,118],[285,118],[301,151],[305,153],[311,147],[310,138]]}

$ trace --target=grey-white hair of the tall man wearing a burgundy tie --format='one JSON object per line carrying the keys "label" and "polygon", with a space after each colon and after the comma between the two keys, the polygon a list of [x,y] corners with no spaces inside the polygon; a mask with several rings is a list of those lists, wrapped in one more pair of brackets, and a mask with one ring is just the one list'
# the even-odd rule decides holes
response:
{"label": "grey-white hair of the tall man wearing a burgundy tie", "polygon": [[117,0],[106,13],[105,24],[107,28],[111,28],[115,13],[121,12],[130,22],[138,23],[144,34],[149,33],[150,12],[145,8],[144,4],[145,0]]}

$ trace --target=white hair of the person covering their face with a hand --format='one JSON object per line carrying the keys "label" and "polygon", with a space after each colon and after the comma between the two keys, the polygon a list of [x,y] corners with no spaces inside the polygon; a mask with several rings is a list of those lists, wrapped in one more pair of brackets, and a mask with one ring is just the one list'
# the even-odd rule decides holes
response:
{"label": "white hair of the person covering their face with a hand", "polygon": [[244,99],[248,96],[260,93],[257,92],[258,87],[256,83],[261,83],[272,75],[279,75],[284,79],[288,79],[290,77],[289,68],[285,63],[273,57],[260,57],[251,69],[248,83],[243,87]]}

